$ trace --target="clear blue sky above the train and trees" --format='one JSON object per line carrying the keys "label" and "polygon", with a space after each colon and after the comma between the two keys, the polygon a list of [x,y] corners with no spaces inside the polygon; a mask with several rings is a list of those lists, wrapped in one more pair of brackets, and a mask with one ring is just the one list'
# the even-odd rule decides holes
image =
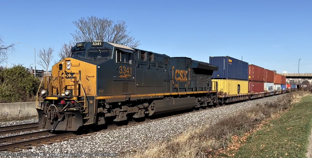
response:
{"label": "clear blue sky above the train and trees", "polygon": [[[312,72],[312,1],[2,1],[0,35],[8,45],[52,46],[54,58],[80,17],[124,20],[140,49],[209,62],[231,56],[277,72]],[[19,43],[8,64],[34,63]],[[36,58],[38,59],[38,57]],[[54,61],[51,62],[51,65]],[[33,66],[33,65],[32,65]],[[43,69],[37,64],[37,69]]]}

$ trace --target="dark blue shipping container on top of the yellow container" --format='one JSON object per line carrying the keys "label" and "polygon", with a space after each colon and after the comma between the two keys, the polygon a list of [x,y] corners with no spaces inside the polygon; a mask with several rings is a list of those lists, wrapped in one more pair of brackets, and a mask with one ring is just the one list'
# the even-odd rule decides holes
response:
{"label": "dark blue shipping container on top of the yellow container", "polygon": [[248,80],[248,63],[230,56],[210,56],[209,63],[219,67],[213,71],[214,79]]}

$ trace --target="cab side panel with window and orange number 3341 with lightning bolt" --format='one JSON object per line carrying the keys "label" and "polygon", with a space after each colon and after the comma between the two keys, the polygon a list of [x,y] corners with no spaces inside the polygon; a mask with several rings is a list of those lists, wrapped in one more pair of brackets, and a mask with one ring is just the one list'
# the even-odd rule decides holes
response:
{"label": "cab side panel with window and orange number 3341 with lightning bolt", "polygon": [[134,51],[116,48],[117,77],[113,81],[113,94],[135,93]]}

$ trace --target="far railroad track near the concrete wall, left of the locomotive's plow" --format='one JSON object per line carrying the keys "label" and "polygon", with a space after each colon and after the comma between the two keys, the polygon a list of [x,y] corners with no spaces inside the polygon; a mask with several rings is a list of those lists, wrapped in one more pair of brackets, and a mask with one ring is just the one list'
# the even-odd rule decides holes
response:
{"label": "far railroad track near the concrete wall, left of the locomotive's plow", "polygon": [[18,124],[12,126],[0,127],[0,134],[9,134],[16,132],[23,132],[29,130],[39,129],[38,123],[30,123],[30,124]]}

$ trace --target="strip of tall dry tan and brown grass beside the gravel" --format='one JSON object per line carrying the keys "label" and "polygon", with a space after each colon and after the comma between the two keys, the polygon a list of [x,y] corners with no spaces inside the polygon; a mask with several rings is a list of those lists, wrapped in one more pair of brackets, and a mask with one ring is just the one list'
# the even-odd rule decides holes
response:
{"label": "strip of tall dry tan and brown grass beside the gravel", "polygon": [[270,119],[289,109],[293,103],[309,95],[308,91],[288,93],[274,102],[263,105],[236,115],[229,116],[211,126],[189,129],[169,142],[153,144],[147,149],[138,151],[134,157],[217,157],[222,154],[220,149],[226,149],[234,135],[243,135],[256,128],[263,120]]}

